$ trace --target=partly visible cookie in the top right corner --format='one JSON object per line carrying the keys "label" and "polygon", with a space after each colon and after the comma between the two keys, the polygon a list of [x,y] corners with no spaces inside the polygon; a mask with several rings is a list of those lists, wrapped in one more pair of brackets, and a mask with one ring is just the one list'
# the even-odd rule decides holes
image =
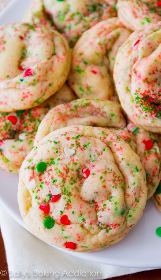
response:
{"label": "partly visible cookie in the top right corner", "polygon": [[161,21],[161,2],[159,0],[118,0],[118,16],[131,30],[146,28],[149,23]]}

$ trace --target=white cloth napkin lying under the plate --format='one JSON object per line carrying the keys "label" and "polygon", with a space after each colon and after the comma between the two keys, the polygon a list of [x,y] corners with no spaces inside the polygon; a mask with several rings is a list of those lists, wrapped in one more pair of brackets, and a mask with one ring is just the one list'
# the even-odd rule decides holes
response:
{"label": "white cloth napkin lying under the plate", "polygon": [[97,264],[61,252],[22,228],[2,207],[0,226],[10,279],[94,280],[148,270]]}

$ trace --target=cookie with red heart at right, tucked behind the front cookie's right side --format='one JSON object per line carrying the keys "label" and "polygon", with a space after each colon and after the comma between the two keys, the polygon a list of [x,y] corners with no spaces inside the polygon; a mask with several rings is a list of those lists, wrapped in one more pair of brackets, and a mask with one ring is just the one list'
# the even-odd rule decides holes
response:
{"label": "cookie with red heart at right, tucked behind the front cookie's right side", "polygon": [[160,179],[160,152],[158,147],[158,137],[143,129],[138,129],[137,132],[128,132],[127,128],[116,129],[109,128],[123,139],[134,152],[140,157],[140,161],[146,172],[146,181],[148,186],[148,199],[155,193]]}

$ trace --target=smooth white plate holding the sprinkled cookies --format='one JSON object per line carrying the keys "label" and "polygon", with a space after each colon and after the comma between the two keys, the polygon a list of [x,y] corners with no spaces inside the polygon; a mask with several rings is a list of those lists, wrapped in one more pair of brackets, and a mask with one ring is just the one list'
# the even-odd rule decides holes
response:
{"label": "smooth white plate holding the sprinkled cookies", "polygon": [[[32,0],[13,0],[0,14],[0,25],[21,21]],[[0,170],[0,203],[6,211],[23,227],[17,203],[18,176]],[[144,215],[127,236],[109,248],[92,253],[66,251],[76,257],[102,264],[125,267],[159,268],[161,267],[161,238],[155,233],[161,226],[161,213],[152,200],[148,201]]]}

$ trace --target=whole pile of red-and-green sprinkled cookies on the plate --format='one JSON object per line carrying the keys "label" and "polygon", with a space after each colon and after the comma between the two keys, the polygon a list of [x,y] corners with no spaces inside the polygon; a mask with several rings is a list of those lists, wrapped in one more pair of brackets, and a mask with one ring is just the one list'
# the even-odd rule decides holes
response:
{"label": "whole pile of red-and-green sprinkled cookies on the plate", "polygon": [[35,0],[0,38],[0,167],[25,224],[77,252],[115,244],[147,199],[161,210],[161,1]]}

